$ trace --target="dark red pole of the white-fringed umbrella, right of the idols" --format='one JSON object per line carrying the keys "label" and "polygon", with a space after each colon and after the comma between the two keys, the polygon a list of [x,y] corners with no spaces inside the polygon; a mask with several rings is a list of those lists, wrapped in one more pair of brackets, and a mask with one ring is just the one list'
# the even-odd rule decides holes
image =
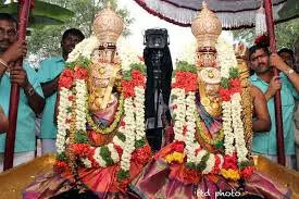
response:
{"label": "dark red pole of the white-fringed umbrella, right of the idols", "polygon": [[[270,38],[270,49],[272,53],[276,53],[276,40],[275,40],[275,32],[274,32],[274,21],[273,21],[273,11],[272,11],[272,1],[264,1],[265,8],[265,18],[266,18],[266,27],[267,27],[267,36]],[[274,75],[278,76],[279,72],[274,67]],[[283,113],[282,113],[282,97],[281,90],[278,90],[274,96],[274,104],[275,104],[275,124],[276,124],[276,140],[277,140],[277,160],[282,165],[286,164],[285,157],[285,144],[284,144],[284,125],[283,125]]]}

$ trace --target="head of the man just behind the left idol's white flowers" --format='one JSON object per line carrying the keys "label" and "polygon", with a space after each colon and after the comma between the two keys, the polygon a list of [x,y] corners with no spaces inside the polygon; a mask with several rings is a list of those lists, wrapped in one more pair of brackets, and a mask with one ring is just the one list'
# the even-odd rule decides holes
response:
{"label": "head of the man just behind the left idol's white flowers", "polygon": [[67,57],[70,52],[75,48],[75,46],[80,42],[85,36],[79,29],[76,28],[71,28],[66,29],[61,39],[61,48],[62,48],[62,53],[63,55]]}

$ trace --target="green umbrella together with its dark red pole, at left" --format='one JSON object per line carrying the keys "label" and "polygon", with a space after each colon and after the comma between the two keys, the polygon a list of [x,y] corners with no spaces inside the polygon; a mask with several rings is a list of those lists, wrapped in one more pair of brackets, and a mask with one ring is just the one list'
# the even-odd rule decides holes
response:
{"label": "green umbrella together with its dark red pole, at left", "polygon": [[[62,24],[74,14],[67,9],[34,0],[20,0],[17,3],[12,2],[10,4],[1,4],[0,12],[10,14],[18,13],[17,40],[26,39],[28,24],[34,26]],[[30,20],[29,23],[28,20]],[[23,59],[18,60],[16,64],[22,66]],[[3,170],[13,166],[18,98],[20,87],[16,84],[12,84],[9,108],[10,126],[7,134]]]}

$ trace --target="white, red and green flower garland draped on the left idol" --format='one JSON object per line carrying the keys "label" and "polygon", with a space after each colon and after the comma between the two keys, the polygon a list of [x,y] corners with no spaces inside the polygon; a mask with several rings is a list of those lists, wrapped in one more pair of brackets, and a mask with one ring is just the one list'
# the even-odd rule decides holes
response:
{"label": "white, red and green flower garland draped on the left idol", "polygon": [[[87,70],[91,63],[90,54],[97,47],[98,39],[96,37],[85,39],[78,43],[68,55],[66,70],[61,75],[59,82],[60,104],[57,140],[59,154],[57,166],[62,169],[67,166],[65,151],[70,148],[71,150],[68,151],[75,157],[75,160],[71,161],[80,161],[88,169],[107,167],[120,163],[117,177],[122,181],[129,177],[132,160],[144,164],[150,156],[149,149],[145,147],[145,64],[141,62],[134,63],[130,65],[130,71],[123,72],[123,91],[120,95],[120,103],[114,122],[102,129],[95,124],[87,109]],[[72,104],[74,103],[75,109],[72,110]],[[73,121],[72,114],[76,115]],[[73,141],[68,141],[67,138],[71,122],[73,122],[75,128]],[[113,137],[112,142],[105,146],[91,147],[88,144],[87,122],[89,125],[91,124],[92,129],[97,133],[117,130],[116,136]],[[82,164],[74,165],[79,166]]]}

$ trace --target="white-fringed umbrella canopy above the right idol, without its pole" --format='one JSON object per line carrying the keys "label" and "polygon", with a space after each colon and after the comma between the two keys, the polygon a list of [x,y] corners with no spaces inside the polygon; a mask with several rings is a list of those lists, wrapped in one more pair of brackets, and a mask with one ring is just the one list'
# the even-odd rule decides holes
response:
{"label": "white-fringed umbrella canopy above the right idol, without its pole", "polygon": [[[149,13],[179,26],[190,26],[203,0],[135,0]],[[205,0],[224,29],[253,27],[262,0]],[[299,17],[298,0],[272,0],[275,23]]]}

